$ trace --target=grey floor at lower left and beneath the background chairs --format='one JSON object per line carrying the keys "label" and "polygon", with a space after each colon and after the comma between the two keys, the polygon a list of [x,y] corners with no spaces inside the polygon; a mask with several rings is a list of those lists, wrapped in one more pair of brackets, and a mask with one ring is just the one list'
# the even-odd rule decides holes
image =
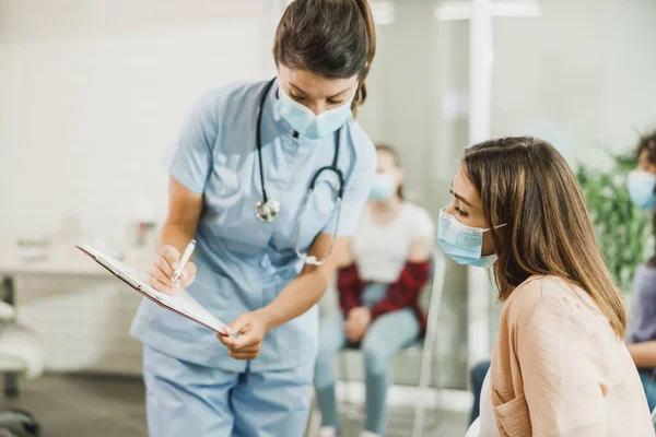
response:
{"label": "grey floor at lower left and beneath the background chairs", "polygon": [[[47,375],[34,381],[21,381],[20,397],[1,401],[1,408],[19,408],[33,413],[44,428],[44,437],[147,436],[143,385],[139,379]],[[426,433],[427,436],[465,435],[466,414],[444,412],[433,418],[437,420],[438,426]],[[388,436],[408,435],[399,427],[409,425],[403,426],[402,422],[390,425]],[[356,420],[344,417],[344,437],[355,437],[360,429]]]}

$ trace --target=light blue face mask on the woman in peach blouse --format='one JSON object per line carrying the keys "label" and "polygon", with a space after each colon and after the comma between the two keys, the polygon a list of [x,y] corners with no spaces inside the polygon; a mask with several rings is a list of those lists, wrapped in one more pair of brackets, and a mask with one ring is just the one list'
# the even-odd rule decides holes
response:
{"label": "light blue face mask on the woman in peach blouse", "polygon": [[[502,227],[505,224],[499,226]],[[437,238],[444,253],[462,265],[490,268],[499,258],[496,253],[482,256],[483,234],[490,229],[464,225],[446,208],[440,210]]]}

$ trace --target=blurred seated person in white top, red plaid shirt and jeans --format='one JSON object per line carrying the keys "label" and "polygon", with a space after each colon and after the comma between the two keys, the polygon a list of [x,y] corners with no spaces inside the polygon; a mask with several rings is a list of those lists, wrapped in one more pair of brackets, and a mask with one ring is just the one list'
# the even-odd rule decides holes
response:
{"label": "blurred seated person in white top, red plaid shirt and jeans", "polygon": [[377,145],[377,174],[338,272],[341,311],[321,320],[315,389],[320,436],[339,435],[333,358],[347,344],[364,352],[366,430],[383,435],[389,362],[425,328],[419,294],[431,271],[434,226],[427,212],[403,200],[403,170],[397,152]]}

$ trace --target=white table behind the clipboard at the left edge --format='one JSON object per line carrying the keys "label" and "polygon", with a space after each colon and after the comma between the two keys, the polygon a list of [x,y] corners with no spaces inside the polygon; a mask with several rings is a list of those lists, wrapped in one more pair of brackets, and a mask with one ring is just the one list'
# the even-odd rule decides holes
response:
{"label": "white table behind the clipboard at the left edge", "polygon": [[[149,271],[154,257],[154,248],[131,250],[124,260],[127,264]],[[14,279],[17,275],[75,275],[107,276],[110,275],[102,265],[93,261],[78,248],[74,243],[59,243],[47,250],[43,259],[23,259],[20,248],[14,241],[0,241],[0,276],[5,291],[4,300],[15,305]],[[4,394],[15,397],[19,393],[16,374],[4,377]]]}

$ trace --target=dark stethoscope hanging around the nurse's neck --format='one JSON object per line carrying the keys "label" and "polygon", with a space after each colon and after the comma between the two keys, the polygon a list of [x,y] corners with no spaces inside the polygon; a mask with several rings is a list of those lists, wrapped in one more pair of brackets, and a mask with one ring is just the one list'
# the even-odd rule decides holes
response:
{"label": "dark stethoscope hanging around the nurse's neck", "polygon": [[[257,127],[256,127],[256,134],[257,134],[257,137],[256,137],[257,144],[256,145],[257,145],[257,154],[259,157],[260,186],[262,188],[262,198],[255,203],[255,215],[261,222],[266,222],[266,223],[271,223],[271,222],[276,221],[276,218],[278,218],[278,215],[280,214],[280,202],[274,199],[270,199],[267,196],[267,189],[265,187],[265,166],[262,164],[262,138],[261,138],[262,108],[267,101],[267,95],[269,94],[269,91],[271,90],[271,86],[273,86],[274,82],[276,82],[276,78],[273,78],[269,83],[267,83],[267,85],[265,86],[265,90],[262,91],[262,95],[260,96],[259,107],[258,107],[258,111],[257,111]],[[296,256],[301,259],[304,259],[306,264],[323,265],[328,260],[328,258],[330,258],[330,253],[332,252],[332,248],[335,247],[335,241],[337,240],[337,231],[339,228],[339,217],[341,214],[341,200],[342,200],[342,194],[343,194],[343,190],[344,190],[344,175],[337,166],[337,160],[339,158],[339,145],[340,145],[340,140],[341,140],[340,133],[341,133],[341,128],[336,133],[337,141],[336,141],[336,146],[335,146],[335,156],[332,158],[332,164],[319,168],[317,170],[317,173],[315,173],[314,177],[312,178],[312,180],[309,182],[309,188],[308,188],[307,192],[305,193],[305,197],[303,200],[303,208],[301,209],[298,224],[296,225],[296,245],[295,245],[294,250],[296,251]],[[303,217],[305,215],[305,210],[307,209],[307,203],[309,202],[312,193],[314,192],[317,178],[325,170],[332,172],[339,177],[339,191],[337,193],[337,220],[335,221],[335,231],[332,233],[332,240],[330,241],[330,247],[328,248],[328,252],[326,253],[326,257],[323,260],[318,261],[316,257],[308,256],[307,253],[301,252],[301,247],[300,247],[301,246],[301,227],[303,225]]]}

